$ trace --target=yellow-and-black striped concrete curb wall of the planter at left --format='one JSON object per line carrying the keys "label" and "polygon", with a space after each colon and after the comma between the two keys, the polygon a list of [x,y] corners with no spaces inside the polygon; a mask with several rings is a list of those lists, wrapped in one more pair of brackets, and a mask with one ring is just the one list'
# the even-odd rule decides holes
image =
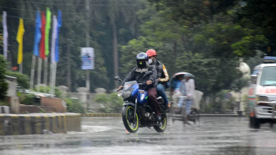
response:
{"label": "yellow-and-black striped concrete curb wall of the planter at left", "polygon": [[15,115],[0,114],[0,136],[81,131],[80,114]]}

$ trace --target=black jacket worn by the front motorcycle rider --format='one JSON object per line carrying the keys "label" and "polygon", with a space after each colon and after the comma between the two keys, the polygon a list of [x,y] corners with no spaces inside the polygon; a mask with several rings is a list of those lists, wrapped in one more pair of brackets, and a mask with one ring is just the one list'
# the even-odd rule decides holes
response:
{"label": "black jacket worn by the front motorcycle rider", "polygon": [[144,79],[142,79],[142,77],[145,75],[145,72],[136,72],[135,70],[137,69],[137,67],[133,68],[127,77],[125,77],[125,79],[123,80],[124,82],[121,83],[121,86],[123,86],[125,84],[125,82],[129,82],[129,81],[137,81],[138,83],[146,83],[148,80],[151,80],[152,84],[148,85],[147,88],[143,88],[143,89],[148,89],[151,87],[154,87],[154,82],[155,79],[157,78],[157,72],[155,67],[149,65],[148,67],[148,71],[151,71],[153,74],[149,77],[144,77]]}

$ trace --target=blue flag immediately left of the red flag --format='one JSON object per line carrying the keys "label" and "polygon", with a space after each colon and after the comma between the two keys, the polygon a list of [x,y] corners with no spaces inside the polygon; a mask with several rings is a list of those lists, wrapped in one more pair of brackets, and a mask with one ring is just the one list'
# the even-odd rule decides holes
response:
{"label": "blue flag immediately left of the red flag", "polygon": [[41,39],[41,18],[40,13],[36,11],[36,25],[35,25],[35,38],[34,38],[34,45],[33,45],[33,55],[39,56],[39,43]]}

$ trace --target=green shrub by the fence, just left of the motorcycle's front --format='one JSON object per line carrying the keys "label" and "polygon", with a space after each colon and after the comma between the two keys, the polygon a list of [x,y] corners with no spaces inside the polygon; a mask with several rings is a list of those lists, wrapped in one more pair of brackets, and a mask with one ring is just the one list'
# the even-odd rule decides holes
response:
{"label": "green shrub by the fence, just left of the motorcycle's front", "polygon": [[104,113],[121,113],[123,98],[117,95],[117,93],[112,93],[109,96],[107,94],[96,95],[95,102],[105,106],[105,108],[100,108],[99,110]]}

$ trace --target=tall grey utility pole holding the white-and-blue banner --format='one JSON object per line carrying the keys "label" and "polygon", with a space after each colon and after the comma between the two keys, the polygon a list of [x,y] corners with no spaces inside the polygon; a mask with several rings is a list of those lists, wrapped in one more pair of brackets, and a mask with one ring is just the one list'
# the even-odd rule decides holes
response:
{"label": "tall grey utility pole holding the white-and-blue banner", "polygon": [[[87,24],[86,24],[86,47],[89,47],[89,0],[86,0],[86,13],[87,13]],[[90,70],[86,69],[86,88],[87,88],[87,104],[86,108],[88,110],[89,105],[89,93],[90,93]]]}

